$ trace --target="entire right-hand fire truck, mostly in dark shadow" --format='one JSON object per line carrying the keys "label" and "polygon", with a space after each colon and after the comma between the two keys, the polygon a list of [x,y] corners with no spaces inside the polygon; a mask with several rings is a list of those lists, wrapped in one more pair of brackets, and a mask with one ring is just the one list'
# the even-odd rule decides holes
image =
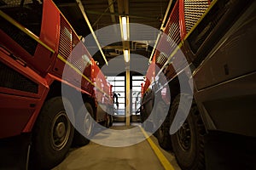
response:
{"label": "entire right-hand fire truck, mostly in dark shadow", "polygon": [[[256,2],[173,1],[163,32],[169,39],[160,37],[142,86],[145,126],[155,126],[148,120],[154,107],[157,114],[168,112],[152,133],[174,152],[182,169],[255,168]],[[182,83],[190,88],[182,90]],[[165,87],[170,103],[162,95]],[[162,99],[155,101],[156,96]],[[186,114],[186,107],[187,119],[175,122],[177,110]],[[173,122],[180,128],[170,135]]]}

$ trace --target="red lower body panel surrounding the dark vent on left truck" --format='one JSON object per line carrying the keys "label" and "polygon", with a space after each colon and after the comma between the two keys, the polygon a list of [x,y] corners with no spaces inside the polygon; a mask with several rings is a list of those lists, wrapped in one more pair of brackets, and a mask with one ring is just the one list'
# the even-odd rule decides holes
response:
{"label": "red lower body panel surrounding the dark vent on left truck", "polygon": [[[28,124],[32,127],[33,116],[38,116],[44,99],[49,91],[49,85],[43,77],[29,67],[24,67],[9,57],[9,52],[0,48],[0,61],[8,65],[20,74],[28,77],[38,84],[38,94],[23,92],[20,90],[0,88],[0,138],[15,136],[21,132],[31,131],[25,128]],[[28,123],[30,122],[30,123]]]}

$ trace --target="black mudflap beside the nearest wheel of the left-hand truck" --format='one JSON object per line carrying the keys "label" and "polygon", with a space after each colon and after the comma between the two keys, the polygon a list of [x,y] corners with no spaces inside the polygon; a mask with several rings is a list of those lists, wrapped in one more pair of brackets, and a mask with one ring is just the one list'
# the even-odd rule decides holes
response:
{"label": "black mudflap beside the nearest wheel of the left-hand truck", "polygon": [[31,133],[0,139],[0,170],[27,170],[31,139]]}

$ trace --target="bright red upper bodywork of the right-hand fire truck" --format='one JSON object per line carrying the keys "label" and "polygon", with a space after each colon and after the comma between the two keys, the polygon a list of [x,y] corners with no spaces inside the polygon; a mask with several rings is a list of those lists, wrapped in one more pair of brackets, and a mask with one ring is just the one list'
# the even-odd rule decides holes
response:
{"label": "bright red upper bodywork of the right-hand fire truck", "polygon": [[[208,3],[210,4],[210,1],[208,1]],[[148,67],[148,71],[146,75],[147,79],[145,80],[144,85],[142,87],[143,94],[146,93],[150,84],[153,82],[152,80],[155,79],[155,76],[158,74],[160,69],[163,70],[163,73],[165,73],[166,75],[167,81],[169,81],[172,78],[177,76],[177,72],[180,71],[178,69],[184,68],[184,65],[187,64],[187,60],[184,57],[179,57],[178,56],[179,54],[176,53],[174,56],[172,56],[172,59],[170,59],[170,61],[168,62],[169,64],[165,65],[165,68],[163,68],[167,59],[170,58],[170,55],[172,54],[173,51],[175,51],[175,49],[177,48],[177,45],[183,42],[183,39],[186,37],[188,33],[186,31],[183,0],[177,0],[177,2],[174,4],[172,8],[172,12],[166,22],[166,27],[164,28],[163,32],[164,34],[160,37],[160,40],[157,44],[157,48],[154,52],[154,57],[151,61],[151,64]],[[181,44],[181,47],[179,48],[184,48],[183,44]],[[178,50],[181,50],[181,49],[178,49]],[[162,57],[161,53],[166,54],[166,59],[160,59],[160,57]],[[173,63],[175,63],[176,65],[175,67],[178,68],[177,70],[175,70]],[[163,89],[163,90],[166,90],[166,89]],[[169,100],[169,99],[166,99],[166,95],[165,95],[166,92],[162,92],[161,94],[162,94],[162,99],[166,101]]]}

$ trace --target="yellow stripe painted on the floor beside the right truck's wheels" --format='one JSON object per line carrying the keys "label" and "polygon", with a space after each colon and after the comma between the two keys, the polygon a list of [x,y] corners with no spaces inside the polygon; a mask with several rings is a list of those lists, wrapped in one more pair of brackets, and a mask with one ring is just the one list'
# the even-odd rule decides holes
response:
{"label": "yellow stripe painted on the floor beside the right truck's wheels", "polygon": [[160,160],[162,166],[166,169],[166,170],[174,170],[174,168],[172,167],[172,164],[170,163],[170,161],[168,161],[166,159],[166,156],[164,156],[164,154],[160,151],[159,147],[157,147],[156,144],[154,144],[154,142],[149,138],[148,133],[145,132],[145,130],[143,129],[143,127],[140,127],[144,136],[146,137],[146,139],[148,140],[148,144],[150,144],[151,148],[154,150],[155,155],[158,157],[158,159]]}

